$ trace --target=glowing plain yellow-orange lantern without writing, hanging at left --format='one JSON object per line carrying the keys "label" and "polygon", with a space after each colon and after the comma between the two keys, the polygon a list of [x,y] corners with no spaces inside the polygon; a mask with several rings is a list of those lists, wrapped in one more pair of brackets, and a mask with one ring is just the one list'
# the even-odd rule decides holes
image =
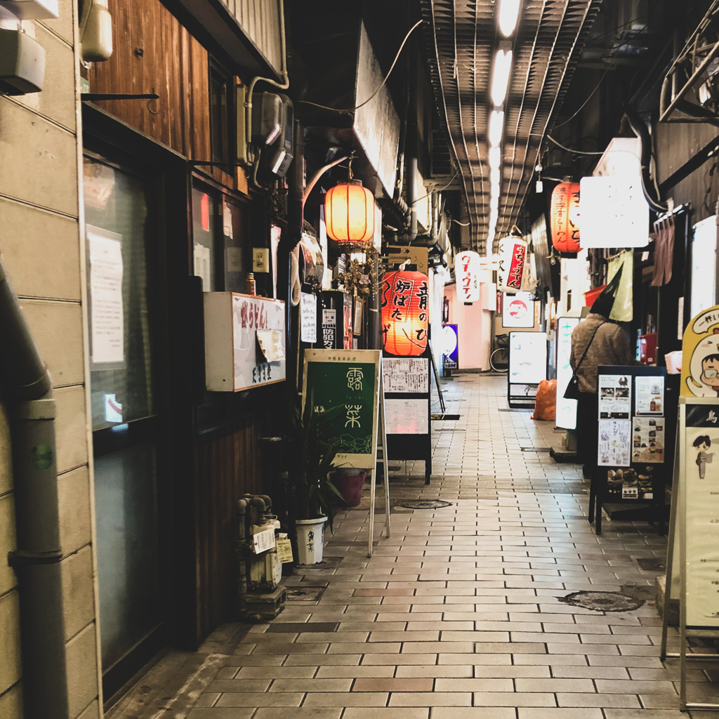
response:
{"label": "glowing plain yellow-orange lantern without writing, hanging at left", "polygon": [[327,234],[337,242],[366,242],[375,234],[375,196],[360,180],[339,183],[324,196]]}

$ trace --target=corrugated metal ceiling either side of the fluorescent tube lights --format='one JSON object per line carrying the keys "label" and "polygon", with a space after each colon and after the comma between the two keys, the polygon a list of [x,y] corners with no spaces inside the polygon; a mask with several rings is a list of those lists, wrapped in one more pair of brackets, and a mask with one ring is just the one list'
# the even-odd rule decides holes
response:
{"label": "corrugated metal ceiling either side of the fluorescent tube lights", "polygon": [[[602,0],[523,0],[505,100],[497,233],[519,216],[542,139],[556,119]],[[484,254],[490,214],[487,123],[497,29],[496,0],[421,0],[436,101],[470,211],[470,246]],[[496,244],[496,243],[494,243]],[[495,246],[496,249],[496,246]]]}

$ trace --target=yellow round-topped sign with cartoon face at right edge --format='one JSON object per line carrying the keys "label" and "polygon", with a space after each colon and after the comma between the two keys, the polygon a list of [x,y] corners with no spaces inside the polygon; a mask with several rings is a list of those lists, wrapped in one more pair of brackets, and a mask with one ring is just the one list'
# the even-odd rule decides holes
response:
{"label": "yellow round-topped sign with cartoon face at right edge", "polygon": [[682,396],[719,397],[719,305],[700,312],[684,331]]}

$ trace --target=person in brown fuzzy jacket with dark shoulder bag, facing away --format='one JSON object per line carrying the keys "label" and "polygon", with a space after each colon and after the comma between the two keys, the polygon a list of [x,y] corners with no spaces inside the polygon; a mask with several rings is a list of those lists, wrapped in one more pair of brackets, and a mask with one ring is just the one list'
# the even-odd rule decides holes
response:
{"label": "person in brown fuzzy jacket with dark shoulder bag, facing away", "polygon": [[623,265],[592,304],[587,319],[572,330],[569,365],[577,376],[580,390],[577,400],[577,456],[584,465],[585,477],[591,477],[597,465],[598,367],[633,363],[626,333],[609,319],[622,269]]}

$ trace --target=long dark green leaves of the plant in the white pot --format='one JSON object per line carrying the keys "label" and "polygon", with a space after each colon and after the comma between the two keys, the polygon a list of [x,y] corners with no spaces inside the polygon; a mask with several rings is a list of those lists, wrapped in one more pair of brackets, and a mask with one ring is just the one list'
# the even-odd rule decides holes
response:
{"label": "long dark green leaves of the plant in the white pot", "polygon": [[329,478],[335,469],[336,445],[329,437],[328,428],[340,407],[316,408],[313,394],[305,406],[296,395],[292,413],[293,434],[290,438],[290,495],[291,512],[295,519],[316,519],[326,516],[332,531],[335,505],[334,497],[342,494]]}

